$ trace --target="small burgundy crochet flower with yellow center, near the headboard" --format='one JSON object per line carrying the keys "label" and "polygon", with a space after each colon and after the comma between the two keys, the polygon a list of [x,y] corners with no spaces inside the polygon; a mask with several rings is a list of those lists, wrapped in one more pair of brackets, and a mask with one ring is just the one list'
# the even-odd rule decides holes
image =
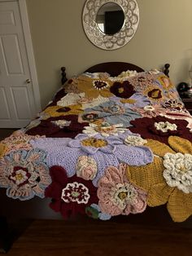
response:
{"label": "small burgundy crochet flower with yellow center, near the headboard", "polygon": [[110,91],[113,95],[124,99],[128,99],[136,92],[129,81],[114,82],[110,87]]}

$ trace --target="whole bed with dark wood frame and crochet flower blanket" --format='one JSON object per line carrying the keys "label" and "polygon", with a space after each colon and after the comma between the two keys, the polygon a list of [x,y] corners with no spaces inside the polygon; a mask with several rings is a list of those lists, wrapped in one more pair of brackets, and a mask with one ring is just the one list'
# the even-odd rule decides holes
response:
{"label": "whole bed with dark wood frame and crochet flower blanket", "polygon": [[0,214],[191,220],[192,117],[168,68],[61,68],[46,108],[0,143]]}

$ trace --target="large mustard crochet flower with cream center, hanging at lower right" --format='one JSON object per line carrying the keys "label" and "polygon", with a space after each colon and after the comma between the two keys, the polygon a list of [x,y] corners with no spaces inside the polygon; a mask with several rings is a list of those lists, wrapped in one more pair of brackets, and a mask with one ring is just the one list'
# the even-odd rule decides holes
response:
{"label": "large mustard crochet flower with cream center, hanging at lower right", "polygon": [[128,178],[148,192],[151,207],[167,203],[173,221],[182,222],[192,214],[192,143],[177,136],[168,145],[153,139],[147,144],[156,155],[146,166],[129,166]]}

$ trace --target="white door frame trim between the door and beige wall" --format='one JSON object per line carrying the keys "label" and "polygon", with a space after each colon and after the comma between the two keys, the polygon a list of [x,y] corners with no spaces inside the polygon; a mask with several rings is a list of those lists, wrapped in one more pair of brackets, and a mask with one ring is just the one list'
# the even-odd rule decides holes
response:
{"label": "white door frame trim between the door and beige wall", "polygon": [[41,97],[40,97],[40,90],[38,86],[37,69],[36,69],[36,63],[35,63],[35,58],[33,53],[33,42],[32,42],[32,37],[30,32],[29,21],[28,21],[28,9],[27,9],[26,0],[0,0],[0,2],[18,2],[19,8],[20,8],[21,24],[24,31],[24,42],[26,46],[30,78],[32,81],[35,107],[38,113],[41,111]]}

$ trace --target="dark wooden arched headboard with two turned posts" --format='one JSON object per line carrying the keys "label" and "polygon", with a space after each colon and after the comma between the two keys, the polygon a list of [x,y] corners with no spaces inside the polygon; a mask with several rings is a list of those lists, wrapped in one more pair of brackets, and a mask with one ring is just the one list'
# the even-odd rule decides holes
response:
{"label": "dark wooden arched headboard with two turned posts", "polygon": [[[164,74],[168,77],[170,64],[164,64]],[[66,68],[61,68],[61,83],[62,85],[68,80],[65,72]],[[144,69],[138,67],[135,64],[130,64],[126,62],[104,62],[100,64],[96,64],[88,69],[85,72],[95,73],[95,72],[107,72],[112,77],[118,76],[121,72],[126,70],[136,70],[137,72],[143,72]]]}

